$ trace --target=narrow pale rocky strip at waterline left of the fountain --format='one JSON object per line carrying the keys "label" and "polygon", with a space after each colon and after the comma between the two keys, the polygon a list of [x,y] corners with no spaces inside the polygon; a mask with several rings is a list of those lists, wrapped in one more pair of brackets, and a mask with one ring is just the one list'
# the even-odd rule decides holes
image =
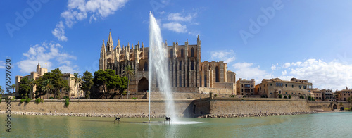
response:
{"label": "narrow pale rocky strip at waterline left of the fountain", "polygon": [[[0,111],[0,114],[5,114],[4,111]],[[6,113],[7,114],[7,113]],[[78,117],[102,117],[102,118],[148,118],[148,114],[111,114],[111,113],[39,113],[39,112],[13,112],[15,115],[47,115],[47,116],[78,116]],[[177,115],[183,117],[183,115]],[[151,118],[165,118],[163,114],[152,114]]]}

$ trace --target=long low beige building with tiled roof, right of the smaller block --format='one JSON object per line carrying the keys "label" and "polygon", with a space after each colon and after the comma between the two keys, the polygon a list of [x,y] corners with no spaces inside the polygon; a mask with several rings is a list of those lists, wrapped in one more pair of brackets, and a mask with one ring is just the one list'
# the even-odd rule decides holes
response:
{"label": "long low beige building with tiled roof, right of the smaller block", "polygon": [[277,98],[279,94],[284,96],[291,95],[294,98],[299,96],[308,97],[311,95],[312,83],[307,80],[298,80],[292,78],[290,81],[275,79],[263,79],[260,84],[256,86],[258,95],[266,96],[268,98]]}

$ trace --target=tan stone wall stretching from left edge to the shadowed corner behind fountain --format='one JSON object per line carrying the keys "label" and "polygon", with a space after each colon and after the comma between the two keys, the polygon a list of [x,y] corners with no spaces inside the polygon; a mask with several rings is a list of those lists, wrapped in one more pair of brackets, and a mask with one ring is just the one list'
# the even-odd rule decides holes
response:
{"label": "tan stone wall stretching from left edge to the shadowed corner behind fountain", "polygon": [[[44,103],[11,102],[11,111],[42,112],[42,113],[120,113],[147,114],[148,99],[70,99],[70,105],[65,107],[64,99],[45,99]],[[192,100],[175,100],[177,114],[188,114]],[[6,101],[0,103],[0,110],[5,111]],[[152,114],[165,114],[165,100],[151,100]]]}

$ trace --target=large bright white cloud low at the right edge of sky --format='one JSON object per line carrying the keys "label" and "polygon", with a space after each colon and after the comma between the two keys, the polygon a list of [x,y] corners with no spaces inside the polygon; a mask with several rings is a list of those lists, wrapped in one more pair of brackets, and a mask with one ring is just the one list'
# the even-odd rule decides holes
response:
{"label": "large bright white cloud low at the right edge of sky", "polygon": [[[285,63],[287,64],[287,63]],[[338,61],[308,59],[291,63],[291,75],[312,82],[320,89],[344,89],[352,84],[352,65]]]}

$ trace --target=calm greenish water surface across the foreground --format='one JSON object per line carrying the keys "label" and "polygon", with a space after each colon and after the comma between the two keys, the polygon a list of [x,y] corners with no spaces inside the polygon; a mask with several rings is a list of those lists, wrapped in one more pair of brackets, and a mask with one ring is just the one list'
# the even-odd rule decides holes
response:
{"label": "calm greenish water surface across the foreground", "polygon": [[318,113],[262,118],[180,118],[163,124],[164,118],[62,117],[12,115],[11,133],[1,114],[0,137],[351,137],[352,113]]}

